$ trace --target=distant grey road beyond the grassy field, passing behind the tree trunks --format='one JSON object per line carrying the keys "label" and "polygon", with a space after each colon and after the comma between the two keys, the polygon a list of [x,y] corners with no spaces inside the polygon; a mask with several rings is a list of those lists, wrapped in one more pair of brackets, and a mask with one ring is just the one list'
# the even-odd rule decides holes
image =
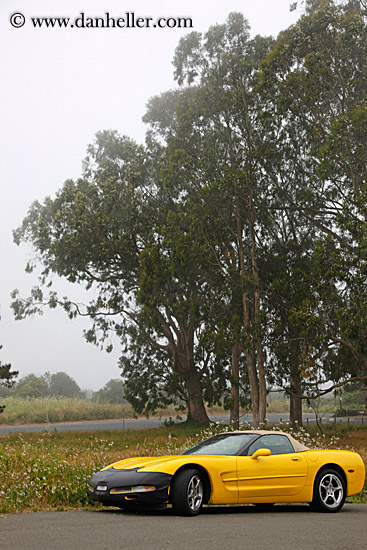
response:
{"label": "distant grey road beyond the grassy field, passing behind the tree trunks", "polygon": [[[322,415],[323,422],[330,422],[332,415],[325,413]],[[268,421],[271,424],[278,424],[279,422],[287,422],[289,415],[287,413],[269,413]],[[211,415],[212,421],[229,422],[229,415],[217,414]],[[313,413],[304,413],[303,421],[315,422],[315,415]],[[96,420],[91,422],[65,422],[57,424],[30,424],[25,426],[0,426],[0,435],[6,435],[9,433],[26,433],[26,432],[43,432],[43,431],[96,431],[96,430],[140,430],[146,428],[158,428],[164,423],[164,418],[139,418],[136,420],[125,420],[124,423],[121,420]],[[351,422],[361,422],[361,417],[351,417]],[[367,424],[367,418],[364,419]],[[246,414],[241,418],[242,422],[252,422],[252,415]],[[338,419],[339,421],[346,421],[346,419]]]}

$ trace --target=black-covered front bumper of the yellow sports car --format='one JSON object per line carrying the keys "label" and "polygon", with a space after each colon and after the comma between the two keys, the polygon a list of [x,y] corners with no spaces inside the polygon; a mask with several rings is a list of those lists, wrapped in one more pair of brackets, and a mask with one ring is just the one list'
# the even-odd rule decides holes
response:
{"label": "black-covered front bumper of the yellow sports car", "polygon": [[[171,475],[158,472],[139,472],[138,470],[108,470],[94,474],[88,485],[94,487],[94,491],[88,488],[88,497],[91,500],[102,502],[104,506],[118,506],[119,508],[163,508],[168,501]],[[97,491],[97,485],[106,485],[106,491]],[[118,487],[133,487],[137,485],[154,485],[155,491],[147,493],[126,492],[123,494],[111,494],[111,489]]]}

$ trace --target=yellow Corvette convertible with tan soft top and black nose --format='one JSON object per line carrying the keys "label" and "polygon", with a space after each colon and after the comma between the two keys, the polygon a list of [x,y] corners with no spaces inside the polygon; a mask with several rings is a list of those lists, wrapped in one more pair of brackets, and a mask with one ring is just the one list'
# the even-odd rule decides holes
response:
{"label": "yellow Corvette convertible with tan soft top and black nose", "polygon": [[278,502],[338,512],[364,480],[358,453],[309,449],[288,433],[251,430],[214,435],[181,455],[115,462],[90,478],[88,497],[125,510],[170,503],[185,516],[204,504]]}

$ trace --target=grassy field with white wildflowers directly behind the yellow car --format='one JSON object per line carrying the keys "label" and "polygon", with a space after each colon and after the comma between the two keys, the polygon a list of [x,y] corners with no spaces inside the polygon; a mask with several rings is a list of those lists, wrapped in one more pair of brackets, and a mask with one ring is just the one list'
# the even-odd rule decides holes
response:
{"label": "grassy field with white wildflowers directly behind the yellow car", "polygon": [[[221,428],[223,429],[223,428]],[[131,456],[176,454],[213,429],[180,426],[125,432],[44,432],[0,438],[0,513],[90,508],[88,478],[102,466]],[[340,439],[309,436],[310,446],[354,448],[367,463],[367,430],[344,430]],[[367,487],[356,502],[367,502]]]}

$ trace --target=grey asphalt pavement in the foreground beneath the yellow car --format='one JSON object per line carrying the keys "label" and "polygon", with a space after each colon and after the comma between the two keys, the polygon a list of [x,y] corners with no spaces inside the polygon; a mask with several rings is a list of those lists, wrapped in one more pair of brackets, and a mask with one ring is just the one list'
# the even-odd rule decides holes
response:
{"label": "grey asphalt pavement in the foreground beneath the yellow car", "polygon": [[172,510],[50,512],[0,516],[1,550],[366,550],[367,505],[337,514],[309,506],[208,507],[195,518]]}

